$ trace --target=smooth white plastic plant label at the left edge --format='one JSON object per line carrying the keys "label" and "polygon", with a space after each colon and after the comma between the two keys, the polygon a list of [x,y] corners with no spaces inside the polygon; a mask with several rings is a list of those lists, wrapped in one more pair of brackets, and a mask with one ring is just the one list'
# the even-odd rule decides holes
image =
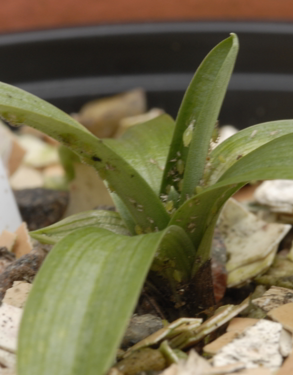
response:
{"label": "smooth white plastic plant label at the left edge", "polygon": [[22,220],[0,158],[0,233],[3,229],[14,232]]}

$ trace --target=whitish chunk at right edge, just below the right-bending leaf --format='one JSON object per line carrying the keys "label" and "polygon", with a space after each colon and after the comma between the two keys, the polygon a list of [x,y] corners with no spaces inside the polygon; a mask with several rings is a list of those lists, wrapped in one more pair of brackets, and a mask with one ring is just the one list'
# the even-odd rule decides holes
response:
{"label": "whitish chunk at right edge, just below the right-bending leaf", "polygon": [[293,213],[293,180],[275,179],[264,181],[254,191],[254,198],[271,211]]}

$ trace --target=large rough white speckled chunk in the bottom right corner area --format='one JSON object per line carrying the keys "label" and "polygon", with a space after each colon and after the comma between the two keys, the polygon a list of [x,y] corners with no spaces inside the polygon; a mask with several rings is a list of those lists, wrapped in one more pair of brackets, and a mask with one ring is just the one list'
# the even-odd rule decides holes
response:
{"label": "large rough white speckled chunk in the bottom right corner area", "polygon": [[238,338],[223,346],[213,357],[213,365],[243,362],[245,368],[264,366],[271,370],[278,369],[282,364],[279,352],[281,330],[280,323],[260,319]]}

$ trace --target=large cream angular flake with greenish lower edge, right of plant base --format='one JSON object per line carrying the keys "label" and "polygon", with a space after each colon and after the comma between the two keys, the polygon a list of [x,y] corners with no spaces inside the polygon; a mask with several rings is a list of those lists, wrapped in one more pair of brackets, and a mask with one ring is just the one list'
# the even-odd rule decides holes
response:
{"label": "large cream angular flake with greenish lower edge, right of plant base", "polygon": [[263,273],[272,263],[278,243],[291,225],[267,223],[230,198],[219,218],[218,228],[229,257],[227,286],[236,286]]}

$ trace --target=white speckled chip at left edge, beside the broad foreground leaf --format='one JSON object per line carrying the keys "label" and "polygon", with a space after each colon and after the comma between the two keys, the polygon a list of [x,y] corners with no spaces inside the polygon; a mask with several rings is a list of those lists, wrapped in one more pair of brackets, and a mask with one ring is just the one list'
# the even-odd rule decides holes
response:
{"label": "white speckled chip at left edge, beside the broad foreground leaf", "polygon": [[0,306],[0,348],[12,353],[16,351],[17,333],[22,309],[2,303]]}

